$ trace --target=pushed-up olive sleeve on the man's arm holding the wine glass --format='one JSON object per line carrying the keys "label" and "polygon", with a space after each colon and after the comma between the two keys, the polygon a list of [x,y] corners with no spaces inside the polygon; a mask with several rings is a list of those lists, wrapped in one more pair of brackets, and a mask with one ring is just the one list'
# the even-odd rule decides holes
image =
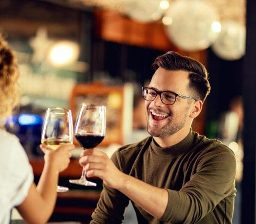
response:
{"label": "pushed-up olive sleeve on the man's arm holding the wine glass", "polygon": [[199,159],[196,172],[179,191],[168,190],[168,205],[161,220],[196,223],[225,197],[235,194],[236,159],[226,146],[217,146]]}

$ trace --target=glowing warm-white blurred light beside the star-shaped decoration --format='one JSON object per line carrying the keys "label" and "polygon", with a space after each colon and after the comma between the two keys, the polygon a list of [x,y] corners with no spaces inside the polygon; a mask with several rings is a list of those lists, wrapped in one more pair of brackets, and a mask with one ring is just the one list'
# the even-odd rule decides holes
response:
{"label": "glowing warm-white blurred light beside the star-shaped decoration", "polygon": [[79,46],[73,41],[57,41],[49,50],[49,62],[54,67],[66,66],[77,61]]}

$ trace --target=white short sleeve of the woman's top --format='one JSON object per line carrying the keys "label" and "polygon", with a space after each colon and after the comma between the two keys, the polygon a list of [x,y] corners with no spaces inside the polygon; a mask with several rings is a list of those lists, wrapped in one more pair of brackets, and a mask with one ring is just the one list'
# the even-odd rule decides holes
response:
{"label": "white short sleeve of the woman's top", "polygon": [[33,170],[19,140],[8,134],[0,142],[0,216],[20,205],[33,182]]}

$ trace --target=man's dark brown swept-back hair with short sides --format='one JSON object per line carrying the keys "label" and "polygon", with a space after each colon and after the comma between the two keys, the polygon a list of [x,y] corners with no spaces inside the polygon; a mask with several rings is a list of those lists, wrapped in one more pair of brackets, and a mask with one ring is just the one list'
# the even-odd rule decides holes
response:
{"label": "man's dark brown swept-back hair with short sides", "polygon": [[208,81],[207,69],[199,61],[178,54],[177,52],[169,51],[161,56],[158,56],[152,64],[154,70],[158,67],[167,70],[185,70],[189,72],[190,84],[189,87],[195,90],[197,99],[205,101],[210,92],[210,83]]}

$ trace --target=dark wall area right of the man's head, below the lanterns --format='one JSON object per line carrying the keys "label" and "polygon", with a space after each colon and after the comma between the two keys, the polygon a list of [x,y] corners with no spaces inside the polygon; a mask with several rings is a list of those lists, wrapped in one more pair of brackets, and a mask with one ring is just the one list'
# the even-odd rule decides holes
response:
{"label": "dark wall area right of the man's head, below the lanterns", "polygon": [[211,92],[207,99],[207,121],[219,119],[222,112],[229,109],[233,97],[242,95],[243,61],[241,58],[226,61],[208,49],[208,72]]}

